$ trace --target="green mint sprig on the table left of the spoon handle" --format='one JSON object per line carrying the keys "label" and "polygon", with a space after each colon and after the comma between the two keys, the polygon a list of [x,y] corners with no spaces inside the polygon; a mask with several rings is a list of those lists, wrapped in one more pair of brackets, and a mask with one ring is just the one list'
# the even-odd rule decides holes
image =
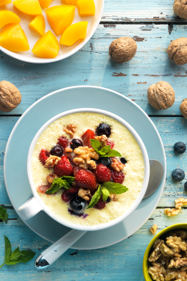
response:
{"label": "green mint sprig on the table left of the spoon handle", "polygon": [[20,251],[19,247],[17,247],[13,252],[11,248],[10,241],[7,236],[4,235],[5,238],[5,260],[4,263],[0,266],[0,268],[4,265],[12,265],[17,263],[26,263],[34,258],[35,254],[32,251],[22,250]]}

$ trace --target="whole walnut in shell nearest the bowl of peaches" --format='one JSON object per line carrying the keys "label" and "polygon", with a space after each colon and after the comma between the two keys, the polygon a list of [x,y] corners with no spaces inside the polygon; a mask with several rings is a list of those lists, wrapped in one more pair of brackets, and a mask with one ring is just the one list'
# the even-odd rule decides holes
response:
{"label": "whole walnut in shell nearest the bowl of peaches", "polygon": [[108,54],[113,61],[122,63],[130,61],[136,54],[137,44],[131,37],[115,39],[109,46]]}

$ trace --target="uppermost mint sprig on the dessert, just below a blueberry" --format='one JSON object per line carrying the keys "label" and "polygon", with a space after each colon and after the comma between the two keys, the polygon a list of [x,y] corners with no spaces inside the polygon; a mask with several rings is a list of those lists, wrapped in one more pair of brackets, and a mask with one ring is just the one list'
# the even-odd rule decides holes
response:
{"label": "uppermost mint sprig on the dessert, just below a blueberry", "polygon": [[117,150],[111,149],[110,145],[101,147],[101,144],[98,140],[90,139],[90,141],[92,147],[95,149],[95,151],[100,157],[114,157],[114,156],[122,157],[122,155]]}

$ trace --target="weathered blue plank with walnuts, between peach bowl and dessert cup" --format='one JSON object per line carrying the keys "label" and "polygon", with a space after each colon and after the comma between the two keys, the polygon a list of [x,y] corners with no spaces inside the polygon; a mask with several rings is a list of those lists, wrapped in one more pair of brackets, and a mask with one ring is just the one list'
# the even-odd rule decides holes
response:
{"label": "weathered blue plank with walnuts, between peach bowl and dessert cup", "polygon": [[[55,63],[31,64],[5,54],[0,56],[0,79],[15,84],[22,102],[11,114],[22,114],[36,100],[60,88],[77,85],[102,86],[136,102],[149,115],[181,115],[179,106],[186,98],[186,66],[177,66],[167,56],[171,40],[187,36],[186,26],[99,25],[93,38],[73,56]],[[126,63],[113,62],[110,43],[130,36],[137,41],[135,57]],[[167,81],[175,90],[175,103],[167,110],[155,110],[147,100],[148,87]],[[10,114],[0,111],[0,114]]]}

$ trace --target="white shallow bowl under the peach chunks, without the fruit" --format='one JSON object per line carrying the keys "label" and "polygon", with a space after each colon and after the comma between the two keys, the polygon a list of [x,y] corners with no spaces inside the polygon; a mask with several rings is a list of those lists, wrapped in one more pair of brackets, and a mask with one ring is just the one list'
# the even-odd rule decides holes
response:
{"label": "white shallow bowl under the peach chunks, without the fruit", "polygon": [[[74,24],[76,22],[80,22],[80,21],[88,21],[86,37],[83,40],[77,41],[71,47],[60,44],[60,50],[58,52],[58,55],[53,59],[41,58],[41,57],[36,56],[33,52],[31,52],[35,43],[41,37],[38,33],[31,30],[28,26],[29,22],[31,22],[35,16],[29,16],[29,15],[26,15],[26,14],[20,12],[17,8],[14,7],[14,5],[12,3],[7,4],[5,7],[0,8],[0,10],[12,11],[12,12],[16,13],[18,15],[18,17],[20,17],[21,22],[19,23],[19,25],[22,27],[22,29],[24,30],[24,32],[26,34],[26,37],[29,42],[30,50],[25,51],[25,52],[11,52],[1,46],[0,46],[0,50],[2,52],[4,52],[5,54],[9,55],[10,57],[16,58],[23,62],[32,62],[32,63],[57,62],[57,61],[65,59],[66,57],[72,56],[74,53],[78,52],[90,40],[90,38],[92,37],[92,35],[94,34],[94,32],[96,31],[96,29],[99,25],[99,22],[101,20],[102,13],[103,13],[104,0],[94,0],[94,2],[95,2],[95,7],[96,7],[96,12],[95,12],[94,16],[79,16],[78,9],[75,6],[75,16],[74,16],[74,20],[73,20],[72,24]],[[50,4],[49,7],[62,5],[64,3],[65,3],[65,1],[63,1],[63,0],[62,1],[53,0],[53,2]],[[61,34],[60,35],[56,34],[55,31],[51,28],[51,26],[48,22],[45,10],[46,10],[46,8],[42,8],[42,15],[45,17],[45,21],[46,21],[46,32],[48,30],[50,30],[56,36],[57,40],[59,41]],[[1,31],[1,29],[0,29],[0,31]]]}

